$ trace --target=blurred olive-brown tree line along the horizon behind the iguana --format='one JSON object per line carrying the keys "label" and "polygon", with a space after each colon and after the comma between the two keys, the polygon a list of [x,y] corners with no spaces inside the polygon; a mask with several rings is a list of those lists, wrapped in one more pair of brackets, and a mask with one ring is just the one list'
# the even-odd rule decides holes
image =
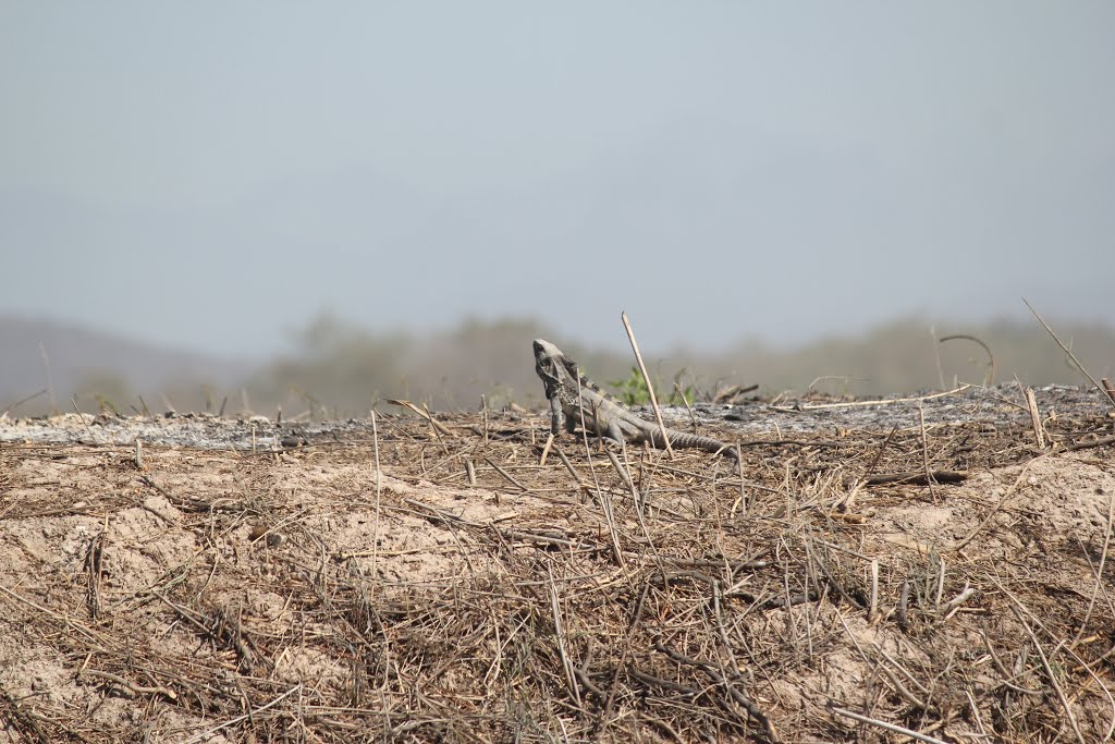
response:
{"label": "blurred olive-brown tree line along the horizon behind the iguana", "polygon": [[[1098,323],[1054,327],[1094,377],[1115,376],[1115,330]],[[957,334],[978,341],[940,340]],[[725,335],[731,336],[733,329],[725,329]],[[235,384],[184,377],[153,389],[133,385],[119,370],[98,368],[81,381],[76,400],[87,413],[163,413],[173,407],[273,417],[281,408],[285,419],[362,417],[389,398],[436,410],[475,410],[483,395],[492,408],[517,404],[540,409],[542,384],[534,374],[530,345],[536,337],[555,342],[598,383],[630,376],[629,350],[585,348],[531,319],[471,318],[456,328],[419,336],[375,334],[326,315],[295,334],[292,351],[240,376]],[[615,337],[617,348],[627,349],[622,328],[617,327]],[[644,359],[656,389],[665,386],[668,393],[677,381],[698,400],[711,399],[729,386],[750,385],[758,385],[757,394],[766,397],[811,389],[869,396],[985,384],[991,366],[981,344],[993,355],[996,383],[1017,377],[1028,385],[1086,384],[1037,322],[1015,320],[934,329],[922,319],[903,318],[861,336],[798,347],[752,339],[715,354],[685,348],[644,351]],[[56,398],[55,410],[72,410],[68,392]],[[28,415],[33,408],[25,405],[18,413]]]}

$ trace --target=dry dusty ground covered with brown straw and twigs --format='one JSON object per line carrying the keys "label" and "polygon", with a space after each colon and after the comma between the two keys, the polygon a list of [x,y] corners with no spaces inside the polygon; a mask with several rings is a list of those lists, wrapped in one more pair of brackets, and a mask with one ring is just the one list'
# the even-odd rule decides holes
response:
{"label": "dry dusty ground covered with brown straw and twigs", "polygon": [[2,419],[0,742],[1107,741],[1112,406],[1020,400]]}

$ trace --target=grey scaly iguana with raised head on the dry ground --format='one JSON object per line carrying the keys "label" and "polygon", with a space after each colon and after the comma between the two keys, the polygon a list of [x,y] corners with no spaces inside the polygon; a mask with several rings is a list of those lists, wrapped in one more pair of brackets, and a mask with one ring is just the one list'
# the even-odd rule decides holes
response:
{"label": "grey scaly iguana with raised head on the dry ground", "polygon": [[[550,400],[550,431],[558,434],[562,419],[565,431],[573,434],[580,424],[588,432],[622,444],[623,442],[648,442],[651,446],[665,448],[662,429],[640,418],[633,410],[600,389],[600,386],[580,373],[576,363],[562,354],[550,341],[534,339],[534,370],[542,378]],[[583,412],[583,421],[582,421]],[[695,447],[730,457],[736,451],[724,442],[708,436],[698,436],[667,428],[666,436],[671,447]]]}

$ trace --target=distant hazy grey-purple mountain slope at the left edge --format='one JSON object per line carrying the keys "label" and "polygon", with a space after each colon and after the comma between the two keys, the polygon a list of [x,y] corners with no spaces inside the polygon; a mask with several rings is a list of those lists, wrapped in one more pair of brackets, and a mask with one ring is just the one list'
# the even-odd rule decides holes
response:
{"label": "distant hazy grey-purple mountain slope at the left edge", "polygon": [[71,396],[93,412],[107,399],[130,413],[129,406],[142,406],[139,395],[153,410],[166,408],[164,396],[182,410],[204,408],[209,398],[219,405],[222,390],[253,368],[250,361],[159,348],[72,323],[0,316],[0,414],[72,410]]}

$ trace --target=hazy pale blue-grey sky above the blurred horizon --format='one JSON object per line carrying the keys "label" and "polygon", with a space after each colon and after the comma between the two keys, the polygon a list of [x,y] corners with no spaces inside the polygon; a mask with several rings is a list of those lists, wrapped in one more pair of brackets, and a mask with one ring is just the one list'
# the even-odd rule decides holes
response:
{"label": "hazy pale blue-grey sky above the blurred horizon", "polygon": [[1115,3],[0,1],[0,312],[1115,320]]}

